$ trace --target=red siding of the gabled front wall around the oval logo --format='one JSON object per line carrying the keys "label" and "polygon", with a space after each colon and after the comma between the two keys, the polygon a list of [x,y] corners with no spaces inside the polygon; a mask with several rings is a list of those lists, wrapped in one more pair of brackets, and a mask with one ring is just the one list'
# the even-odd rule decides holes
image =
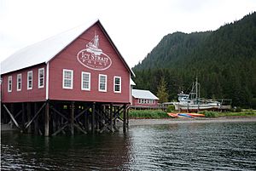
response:
{"label": "red siding of the gabled front wall around the oval logo", "polygon": [[[89,69],[77,60],[79,51],[85,48],[86,43],[89,43],[95,34],[99,36],[100,48],[103,53],[107,54],[112,60],[112,66],[104,71]],[[73,70],[73,89],[62,88],[63,69]],[[90,91],[81,89],[82,71],[90,72]],[[107,92],[99,92],[98,90],[99,74],[108,76]],[[96,23],[49,62],[49,99],[129,103],[130,74],[119,54],[108,41],[108,37]],[[115,76],[121,77],[121,93],[113,92]]]}

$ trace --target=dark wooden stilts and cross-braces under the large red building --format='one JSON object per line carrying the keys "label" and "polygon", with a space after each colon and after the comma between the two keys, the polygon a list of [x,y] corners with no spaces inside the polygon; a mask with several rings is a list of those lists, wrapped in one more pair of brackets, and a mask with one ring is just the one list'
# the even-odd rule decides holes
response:
{"label": "dark wooden stilts and cross-braces under the large red building", "polygon": [[22,102],[2,104],[2,121],[11,121],[25,134],[95,134],[114,132],[117,120],[128,128],[126,104],[82,101]]}

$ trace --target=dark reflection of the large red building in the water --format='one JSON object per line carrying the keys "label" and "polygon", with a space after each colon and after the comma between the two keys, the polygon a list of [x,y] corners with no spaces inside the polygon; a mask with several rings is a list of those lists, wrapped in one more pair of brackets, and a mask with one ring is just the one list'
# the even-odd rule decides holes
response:
{"label": "dark reflection of the large red building in the water", "polygon": [[127,162],[123,134],[40,137],[2,133],[3,170],[117,169]]}

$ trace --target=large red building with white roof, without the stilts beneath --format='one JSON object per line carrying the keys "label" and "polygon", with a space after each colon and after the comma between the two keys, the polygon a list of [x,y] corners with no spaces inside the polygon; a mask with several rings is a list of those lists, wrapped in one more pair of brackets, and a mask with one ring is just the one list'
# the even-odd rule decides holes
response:
{"label": "large red building with white roof, without the stilts beneath", "polygon": [[[122,106],[125,111],[131,104],[134,73],[99,20],[23,48],[1,66],[2,103],[7,112],[7,105],[21,103],[55,106],[58,102],[73,104],[74,110],[84,104],[89,111],[92,105],[106,108],[102,104]],[[34,109],[22,112],[30,110]]]}

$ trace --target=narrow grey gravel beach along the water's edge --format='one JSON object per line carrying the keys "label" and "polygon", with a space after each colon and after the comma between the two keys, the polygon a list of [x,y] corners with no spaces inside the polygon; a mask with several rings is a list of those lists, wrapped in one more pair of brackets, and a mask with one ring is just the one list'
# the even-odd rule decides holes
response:
{"label": "narrow grey gravel beach along the water's edge", "polygon": [[256,117],[129,119],[129,126],[184,123],[256,123]]}

